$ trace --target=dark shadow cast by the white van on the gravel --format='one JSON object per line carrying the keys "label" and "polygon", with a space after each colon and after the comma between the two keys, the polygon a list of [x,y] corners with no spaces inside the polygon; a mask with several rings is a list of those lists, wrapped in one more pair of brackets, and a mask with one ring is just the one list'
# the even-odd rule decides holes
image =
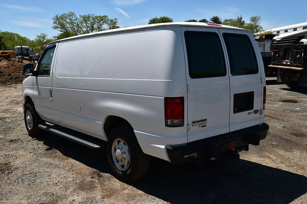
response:
{"label": "dark shadow cast by the white van on the gravel", "polygon": [[[91,150],[50,133],[37,138],[88,167],[111,173],[105,151]],[[307,193],[307,177],[251,161],[221,159],[173,165],[151,159],[148,174],[127,183],[170,203],[289,203]]]}

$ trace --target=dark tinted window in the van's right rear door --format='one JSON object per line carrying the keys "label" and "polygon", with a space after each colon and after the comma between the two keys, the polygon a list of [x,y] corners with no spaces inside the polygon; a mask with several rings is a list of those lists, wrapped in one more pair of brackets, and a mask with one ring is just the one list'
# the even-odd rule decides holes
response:
{"label": "dark tinted window in the van's right rear door", "polygon": [[231,75],[257,74],[257,58],[248,35],[223,33],[223,38],[229,57]]}

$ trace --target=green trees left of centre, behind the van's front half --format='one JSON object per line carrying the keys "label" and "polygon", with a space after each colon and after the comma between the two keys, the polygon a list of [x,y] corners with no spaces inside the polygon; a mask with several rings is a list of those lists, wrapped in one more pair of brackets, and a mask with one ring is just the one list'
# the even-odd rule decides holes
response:
{"label": "green trees left of centre, behind the van's front half", "polygon": [[84,14],[77,16],[75,12],[56,14],[52,18],[52,28],[59,31],[58,35],[49,37],[46,33],[36,35],[30,40],[17,33],[0,31],[0,49],[14,50],[15,46],[29,46],[34,48],[34,52],[40,52],[45,46],[55,40],[82,35],[92,32],[99,32],[120,28],[117,18],[110,19],[107,15],[96,16],[95,14]]}

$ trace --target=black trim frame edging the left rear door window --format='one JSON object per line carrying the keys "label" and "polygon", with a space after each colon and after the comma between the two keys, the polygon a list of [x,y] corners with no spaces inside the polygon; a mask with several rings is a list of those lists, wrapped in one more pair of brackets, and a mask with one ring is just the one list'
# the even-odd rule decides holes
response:
{"label": "black trim frame edging the left rear door window", "polygon": [[218,35],[218,37],[219,37],[219,40],[220,40],[220,48],[221,48],[221,51],[222,51],[222,56],[223,56],[223,61],[224,61],[224,68],[225,68],[225,75],[223,75],[223,76],[204,76],[204,77],[194,77],[194,76],[191,76],[191,74],[190,74],[190,69],[189,69],[189,62],[187,62],[188,63],[188,73],[189,73],[189,77],[191,78],[191,79],[204,79],[204,78],[214,78],[214,77],[224,77],[224,76],[227,76],[227,64],[226,64],[226,58],[225,58],[225,55],[226,55],[226,53],[225,53],[225,50],[224,50],[224,48],[223,48],[223,42],[222,42],[222,39],[221,39],[221,36],[219,35],[219,33],[218,32],[214,32],[214,31],[199,31],[199,30],[186,30],[185,32],[184,32],[184,37],[185,37],[185,51],[186,51],[186,54],[187,54],[187,59],[188,59],[188,61],[189,61],[189,57],[188,57],[188,48],[187,48],[187,39],[186,39],[186,36],[185,36],[185,33],[186,32],[199,32],[199,33],[216,33],[217,35]]}

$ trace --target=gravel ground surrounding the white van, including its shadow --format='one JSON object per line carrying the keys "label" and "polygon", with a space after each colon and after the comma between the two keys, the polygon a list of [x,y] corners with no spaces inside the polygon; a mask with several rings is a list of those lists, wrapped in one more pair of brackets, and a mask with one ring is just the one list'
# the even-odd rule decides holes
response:
{"label": "gravel ground surrounding the white van, including its shadow", "polygon": [[307,203],[307,89],[266,80],[270,130],[259,146],[204,166],[152,158],[130,184],[112,176],[104,151],[31,138],[21,84],[0,86],[0,203]]}

